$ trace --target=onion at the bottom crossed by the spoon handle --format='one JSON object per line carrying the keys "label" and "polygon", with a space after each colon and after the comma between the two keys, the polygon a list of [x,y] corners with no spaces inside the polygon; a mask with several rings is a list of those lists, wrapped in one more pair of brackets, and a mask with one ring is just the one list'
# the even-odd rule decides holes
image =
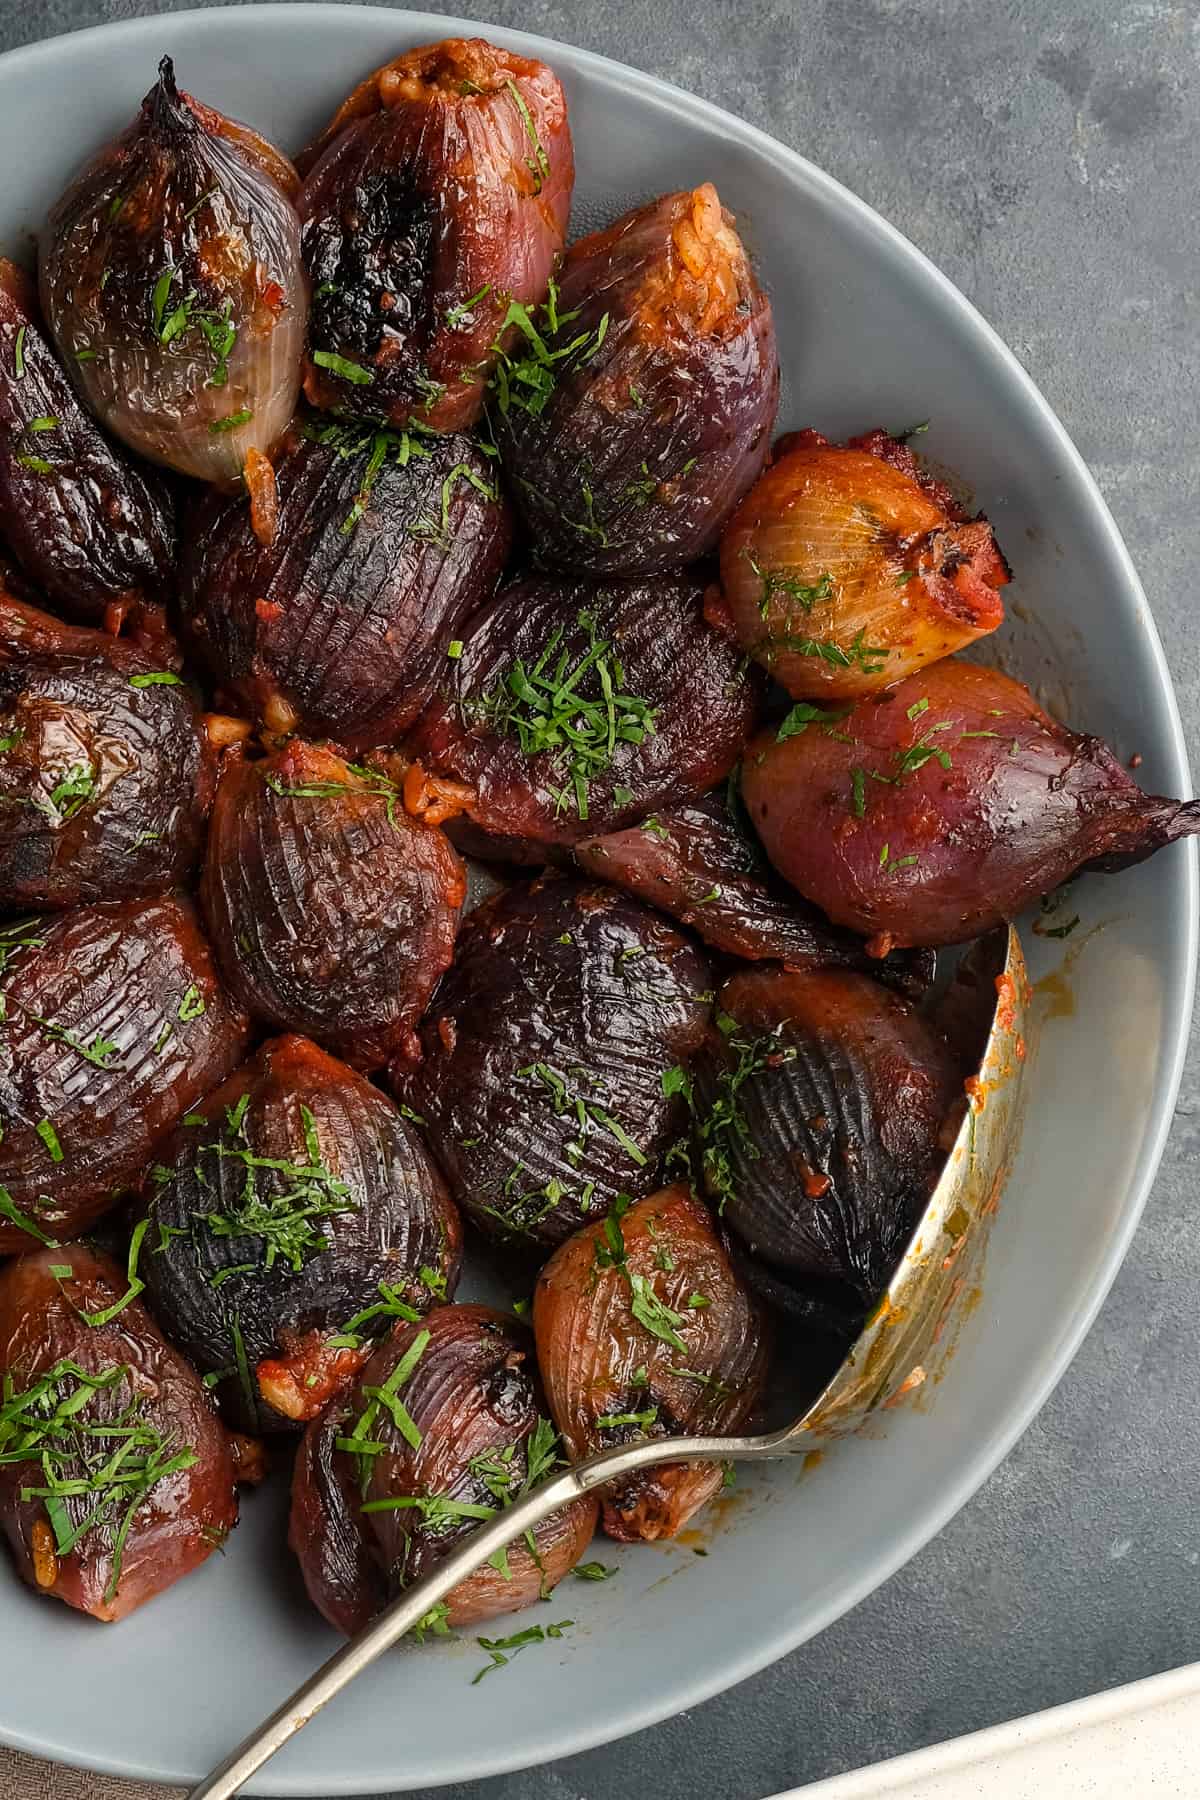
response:
{"label": "onion at the bottom crossed by the spoon handle", "polygon": [[[362,1417],[369,1404],[365,1390],[380,1388],[425,1334],[428,1343],[399,1390],[421,1447],[412,1449],[392,1418],[380,1413],[372,1438],[385,1449],[362,1458],[369,1462],[363,1489],[356,1469],[360,1458],[338,1449],[335,1440]],[[313,1606],[338,1631],[349,1636],[365,1625],[477,1523],[466,1517],[434,1525],[414,1508],[363,1512],[363,1499],[369,1505],[405,1494],[448,1496],[471,1507],[498,1507],[497,1490],[470,1463],[506,1451],[511,1453],[513,1496],[520,1490],[529,1436],[545,1415],[533,1352],[525,1327],[502,1312],[439,1307],[419,1327],[396,1327],[354,1386],[308,1427],[291,1487],[290,1543]],[[468,1575],[446,1598],[446,1624],[473,1625],[549,1597],[592,1541],[596,1512],[596,1498],[585,1496],[551,1514],[534,1532],[536,1561],[524,1539],[516,1539],[507,1552],[507,1580],[491,1564]]]}

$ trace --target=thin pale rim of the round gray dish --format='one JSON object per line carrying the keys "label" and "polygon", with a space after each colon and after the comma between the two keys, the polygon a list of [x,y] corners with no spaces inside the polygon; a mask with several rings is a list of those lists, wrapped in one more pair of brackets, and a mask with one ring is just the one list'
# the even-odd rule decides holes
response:
{"label": "thin pale rim of the round gray dish", "polygon": [[[23,76],[25,72],[38,70],[40,65],[54,63],[59,47],[65,43],[86,43],[103,41],[104,45],[115,43],[121,47],[122,40],[139,40],[153,34],[155,31],[171,32],[176,23],[198,23],[198,22],[221,22],[221,29],[228,31],[236,20],[250,18],[255,22],[270,22],[272,18],[281,23],[286,22],[288,27],[304,27],[306,22],[320,20],[324,23],[336,20],[338,25],[349,32],[356,31],[360,22],[367,18],[378,25],[380,7],[376,5],[342,5],[335,0],[266,0],[266,4],[248,5],[205,5],[205,7],[185,7],[178,13],[149,13],[139,18],[113,20],[103,25],[88,25],[77,31],[59,32],[52,38],[41,38],[36,43],[18,45],[16,49],[0,52],[0,79],[11,79]],[[383,11],[389,11],[387,7]],[[1160,689],[1160,724],[1164,736],[1164,756],[1166,787],[1177,794],[1180,799],[1191,797],[1191,772],[1187,761],[1187,747],[1182,729],[1182,718],[1178,711],[1178,702],[1175,695],[1175,686],[1171,682],[1171,673],[1168,668],[1166,653],[1162,650],[1162,641],[1159,637],[1146,592],[1133,567],[1133,560],[1124,545],[1121,531],[1112,517],[1108,502],[1105,500],[1096,477],[1083,461],[1079,450],[1070,439],[1065,425],[1060,421],[1058,414],[1045,400],[1033,376],[1018,362],[1016,355],[1007,347],[1004,338],[995,331],[995,328],[984,319],[984,315],[973,306],[972,301],[945,275],[923,250],[919,250],[898,227],[891,225],[880,212],[874,211],[865,200],[860,200],[849,187],[842,185],[835,176],[828,175],[808,157],[786,144],[774,139],[768,131],[759,126],[739,119],[736,113],[727,112],[714,101],[707,101],[700,95],[689,94],[685,88],[673,81],[666,81],[660,76],[646,74],[630,63],[621,63],[615,58],[601,56],[596,50],[583,50],[576,45],[563,43],[556,38],[547,38],[538,32],[525,32],[518,29],[509,29],[504,25],[493,25],[480,20],[461,18],[457,14],[441,14],[426,11],[399,11],[399,31],[407,38],[416,38],[423,41],[428,32],[430,41],[444,36],[479,36],[484,34],[491,41],[511,47],[520,54],[536,56],[543,61],[554,65],[554,56],[560,58],[565,52],[567,61],[572,68],[585,74],[594,74],[603,81],[619,79],[624,90],[635,99],[648,99],[660,106],[666,106],[673,113],[687,113],[691,119],[698,119],[712,130],[718,130],[727,139],[741,142],[754,155],[765,157],[774,164],[781,166],[784,173],[799,187],[806,187],[817,193],[835,209],[849,214],[851,220],[864,230],[865,236],[874,239],[882,252],[887,252],[901,261],[907,261],[916,274],[921,275],[925,283],[930,283],[939,295],[941,304],[945,304],[952,313],[959,317],[964,328],[964,335],[970,335],[979,346],[981,353],[993,360],[993,365],[1004,374],[1007,382],[1013,383],[1016,396],[1031,412],[1033,428],[1040,428],[1051,439],[1056,452],[1061,455],[1067,470],[1074,475],[1081,499],[1087,502],[1092,515],[1092,535],[1096,542],[1096,551],[1103,556],[1108,571],[1108,580],[1114,590],[1121,589],[1126,596],[1132,617],[1141,625],[1146,635],[1146,648],[1150,653],[1150,662],[1153,666],[1155,677]],[[946,1485],[946,1490],[939,1496],[937,1505],[927,1508],[914,1517],[907,1530],[900,1534],[892,1544],[874,1557],[867,1559],[860,1577],[851,1582],[837,1598],[829,1598],[819,1604],[804,1620],[802,1625],[779,1627],[768,1633],[766,1638],[756,1640],[752,1645],[739,1652],[732,1652],[729,1661],[721,1665],[720,1672],[687,1676],[680,1672],[673,1678],[669,1685],[669,1697],[664,1701],[662,1692],[648,1696],[640,1705],[633,1705],[622,1712],[619,1724],[613,1728],[612,1721],[603,1717],[592,1717],[590,1723],[578,1724],[570,1719],[556,1723],[552,1732],[547,1732],[549,1744],[538,1748],[538,1753],[531,1759],[525,1750],[518,1753],[488,1753],[486,1757],[464,1757],[459,1766],[446,1769],[435,1777],[425,1777],[423,1786],[446,1786],[450,1782],[466,1780],[486,1780],[493,1775],[511,1773],[522,1768],[534,1768],[543,1762],[560,1760],[561,1757],[578,1755],[587,1750],[594,1750],[601,1744],[613,1742],[619,1737],[633,1735],[648,1726],[658,1724],[662,1719],[673,1717],[678,1712],[702,1705],[712,1699],[716,1694],[736,1687],[739,1681],[748,1679],[759,1670],[766,1669],[770,1663],[786,1656],[790,1651],[799,1649],[802,1643],[815,1638],[819,1633],[826,1631],[835,1620],[842,1618],[853,1607],[860,1606],[882,1582],[889,1580],[900,1568],[903,1568],[927,1543],[930,1543],[950,1519],[973,1498],[973,1494],[982,1487],[988,1476],[1000,1465],[1000,1462],[1013,1449],[1016,1440],[1027,1431],[1036,1415],[1045,1406],[1049,1395],[1058,1386],[1067,1368],[1074,1361],[1087,1332],[1090,1330],[1101,1305],[1105,1303],[1108,1291],[1124,1262],[1130,1242],[1141,1220],[1142,1210],[1150,1197],[1159,1165],[1162,1161],[1162,1152],[1171,1129],[1175,1102],[1178,1096],[1178,1087],[1184,1071],[1184,1058],[1187,1055],[1189,1026],[1196,988],[1196,958],[1200,947],[1200,878],[1198,878],[1198,846],[1195,841],[1187,841],[1177,846],[1177,857],[1182,860],[1182,869],[1178,871],[1184,884],[1184,916],[1178,922],[1182,961],[1186,968],[1186,977],[1180,988],[1168,995],[1164,1010],[1162,1042],[1164,1042],[1164,1067],[1160,1071],[1153,1098],[1150,1100],[1146,1112],[1146,1130],[1142,1138],[1142,1154],[1137,1170],[1130,1181],[1128,1195],[1115,1224],[1112,1237],[1106,1244],[1105,1260],[1092,1282],[1088,1292],[1081,1294],[1074,1310],[1063,1319],[1063,1330],[1060,1332],[1058,1343],[1052,1352],[1045,1357],[1045,1366],[1036,1379],[1031,1393],[1020,1402],[1011,1418],[1007,1418],[999,1429],[995,1429],[986,1444],[982,1444],[959,1471],[957,1478]],[[264,1705],[270,1703],[264,1701]],[[0,1719],[0,1742],[14,1750],[27,1751],[34,1757],[54,1759],[59,1762],[72,1764],[77,1751],[63,1755],[54,1744],[45,1737],[27,1739],[20,1730],[9,1726]],[[149,1768],[146,1764],[130,1764],[128,1760],[117,1762],[113,1759],[97,1757],[83,1764],[88,1769],[99,1773],[108,1773],[115,1777],[124,1777],[128,1780],[157,1782],[164,1780],[160,1769]],[[363,1777],[347,1775],[338,1778],[329,1786],[329,1795],[363,1795],[374,1789],[374,1780],[371,1787],[362,1787]],[[246,1793],[252,1795],[281,1795],[281,1796],[302,1796],[308,1793],[304,1778],[300,1773],[273,1777],[268,1773],[264,1780],[255,1780],[250,1784]]]}

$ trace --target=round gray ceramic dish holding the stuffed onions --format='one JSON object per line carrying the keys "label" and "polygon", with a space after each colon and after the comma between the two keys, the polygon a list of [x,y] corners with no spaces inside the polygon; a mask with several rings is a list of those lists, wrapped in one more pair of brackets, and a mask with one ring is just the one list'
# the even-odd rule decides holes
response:
{"label": "round gray ceramic dish holding the stuffed onions", "polygon": [[[0,248],[27,248],[76,162],[122,126],[164,50],[180,81],[295,148],[405,45],[462,22],[286,5],[139,20],[0,59]],[[903,238],[811,164],[676,88],[520,32],[570,99],[576,229],[716,180],[775,299],[783,423],[840,436],[932,414],[930,455],[961,470],[1016,569],[1033,625],[1006,657],[1141,776],[1187,767],[1146,598],[1063,428],[984,320]],[[1196,959],[1196,864],[1175,848],[1078,889],[1069,945],[1031,938],[1033,976],[1067,968],[1034,1048],[1024,1143],[981,1303],[925,1404],[889,1413],[820,1467],[747,1476],[691,1544],[610,1553],[615,1580],[569,1582],[572,1616],[480,1687],[471,1640],[398,1652],[264,1771],[257,1793],[363,1795],[520,1768],[653,1724],[802,1643],[862,1600],[968,1499],[1063,1373],[1117,1271],[1175,1091]],[[1063,950],[1069,954],[1063,956]],[[1067,995],[1067,1001],[1063,1001]],[[333,1647],[284,1544],[284,1496],[245,1507],[225,1559],[101,1634],[5,1582],[0,1739],[119,1775],[207,1769]],[[502,1633],[504,1625],[497,1627]]]}

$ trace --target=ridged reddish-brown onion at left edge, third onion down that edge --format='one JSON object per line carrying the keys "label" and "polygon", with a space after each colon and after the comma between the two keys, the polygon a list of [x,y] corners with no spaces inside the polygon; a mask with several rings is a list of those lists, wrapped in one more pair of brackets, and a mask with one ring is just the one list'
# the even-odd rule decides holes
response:
{"label": "ridged reddish-brown onion at left edge, third onion down that edge", "polygon": [[0,1001],[4,1255],[108,1211],[248,1028],[173,896],[0,927]]}

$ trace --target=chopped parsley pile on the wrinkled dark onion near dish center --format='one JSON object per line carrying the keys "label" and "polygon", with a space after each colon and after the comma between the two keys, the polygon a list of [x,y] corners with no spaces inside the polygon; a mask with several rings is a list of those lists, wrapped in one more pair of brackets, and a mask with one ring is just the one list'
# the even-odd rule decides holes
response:
{"label": "chopped parsley pile on the wrinkled dark onion near dish center", "polygon": [[[588,817],[588,785],[610,767],[619,743],[642,743],[653,734],[657,707],[624,693],[624,666],[612,641],[596,632],[596,616],[579,612],[588,637],[574,659],[560,648],[565,626],[556,626],[533,666],[516,659],[507,675],[477,702],[479,716],[500,736],[516,738],[524,756],[551,754],[563,787],[556,812],[574,801]],[[587,693],[583,688],[587,686]]]}

